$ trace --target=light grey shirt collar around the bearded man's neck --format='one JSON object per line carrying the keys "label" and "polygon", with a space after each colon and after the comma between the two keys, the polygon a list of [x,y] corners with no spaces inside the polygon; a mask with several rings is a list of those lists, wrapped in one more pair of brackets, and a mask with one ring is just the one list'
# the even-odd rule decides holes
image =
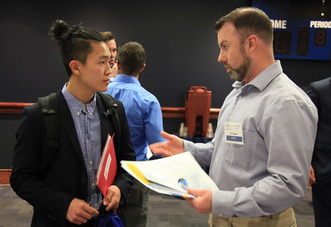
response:
{"label": "light grey shirt collar around the bearded man's neck", "polygon": [[283,72],[283,68],[281,62],[276,60],[275,63],[267,67],[263,70],[259,75],[257,75],[251,82],[245,84],[244,82],[236,81],[232,84],[234,88],[239,88],[243,86],[255,86],[260,91],[265,89],[266,85],[268,85],[275,77]]}

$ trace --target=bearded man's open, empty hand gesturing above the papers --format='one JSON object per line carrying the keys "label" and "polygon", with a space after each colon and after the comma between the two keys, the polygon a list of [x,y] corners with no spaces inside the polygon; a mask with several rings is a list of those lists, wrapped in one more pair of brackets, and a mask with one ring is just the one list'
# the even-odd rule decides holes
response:
{"label": "bearded man's open, empty hand gesturing above the papers", "polygon": [[154,155],[168,157],[184,152],[184,144],[179,137],[168,134],[164,131],[161,131],[161,136],[168,141],[150,144],[149,147]]}

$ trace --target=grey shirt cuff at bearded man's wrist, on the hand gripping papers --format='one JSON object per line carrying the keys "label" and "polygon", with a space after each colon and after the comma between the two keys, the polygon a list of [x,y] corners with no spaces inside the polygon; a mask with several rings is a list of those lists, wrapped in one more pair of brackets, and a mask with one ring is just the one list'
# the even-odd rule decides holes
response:
{"label": "grey shirt cuff at bearded man's wrist, on the hand gripping papers", "polygon": [[217,217],[230,218],[233,214],[232,191],[212,191],[212,214]]}

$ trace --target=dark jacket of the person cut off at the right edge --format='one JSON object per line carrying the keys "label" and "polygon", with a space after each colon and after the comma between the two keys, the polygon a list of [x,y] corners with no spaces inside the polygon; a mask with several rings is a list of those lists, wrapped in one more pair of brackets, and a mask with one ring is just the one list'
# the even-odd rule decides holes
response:
{"label": "dark jacket of the person cut off at the right edge", "polygon": [[311,165],[316,180],[331,183],[331,77],[310,83],[307,94],[318,110],[317,135]]}

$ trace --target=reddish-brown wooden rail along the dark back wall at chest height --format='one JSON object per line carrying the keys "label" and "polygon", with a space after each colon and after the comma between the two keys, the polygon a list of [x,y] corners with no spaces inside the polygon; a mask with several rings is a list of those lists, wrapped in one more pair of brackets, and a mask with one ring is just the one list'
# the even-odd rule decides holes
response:
{"label": "reddish-brown wooden rail along the dark back wall at chest height", "polygon": [[[0,114],[21,114],[22,109],[33,103],[0,103]],[[161,107],[163,118],[185,119],[185,107]],[[210,119],[217,119],[220,109],[210,108]]]}

